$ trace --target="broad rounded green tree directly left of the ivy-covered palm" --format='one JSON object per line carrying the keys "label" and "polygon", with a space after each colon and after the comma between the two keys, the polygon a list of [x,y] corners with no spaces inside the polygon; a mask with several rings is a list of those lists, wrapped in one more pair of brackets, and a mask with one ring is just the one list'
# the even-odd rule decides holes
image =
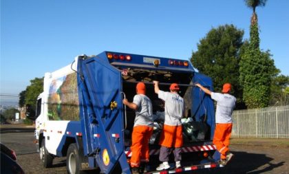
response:
{"label": "broad rounded green tree directly left of the ivy-covered palm", "polygon": [[211,29],[197,44],[191,62],[197,70],[213,79],[215,91],[221,91],[224,83],[233,85],[237,107],[242,105],[242,86],[239,85],[239,53],[243,45],[244,31],[234,25],[222,25]]}

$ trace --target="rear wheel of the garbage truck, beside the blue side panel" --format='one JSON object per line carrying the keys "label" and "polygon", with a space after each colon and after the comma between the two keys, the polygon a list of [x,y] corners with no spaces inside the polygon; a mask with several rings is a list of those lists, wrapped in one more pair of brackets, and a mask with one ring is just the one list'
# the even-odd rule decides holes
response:
{"label": "rear wheel of the garbage truck, beside the blue side panel", "polygon": [[81,171],[81,160],[80,160],[80,152],[78,151],[76,143],[72,143],[69,145],[67,150],[66,157],[66,168],[67,173],[70,174],[83,174],[84,171]]}

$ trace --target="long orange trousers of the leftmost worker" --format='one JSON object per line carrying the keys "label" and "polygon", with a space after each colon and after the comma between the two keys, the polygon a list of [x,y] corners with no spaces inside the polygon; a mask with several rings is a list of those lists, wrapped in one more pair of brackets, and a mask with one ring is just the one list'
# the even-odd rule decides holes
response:
{"label": "long orange trousers of the leftmost worker", "polygon": [[139,167],[140,161],[149,162],[149,138],[153,127],[138,125],[131,135],[131,167]]}

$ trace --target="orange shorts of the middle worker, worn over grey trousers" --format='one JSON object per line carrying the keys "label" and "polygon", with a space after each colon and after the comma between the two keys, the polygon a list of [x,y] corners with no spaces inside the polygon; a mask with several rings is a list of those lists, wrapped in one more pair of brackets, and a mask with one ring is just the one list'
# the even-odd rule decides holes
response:
{"label": "orange shorts of the middle worker, worn over grey trousers", "polygon": [[169,126],[164,124],[159,144],[166,147],[181,147],[182,143],[182,125]]}

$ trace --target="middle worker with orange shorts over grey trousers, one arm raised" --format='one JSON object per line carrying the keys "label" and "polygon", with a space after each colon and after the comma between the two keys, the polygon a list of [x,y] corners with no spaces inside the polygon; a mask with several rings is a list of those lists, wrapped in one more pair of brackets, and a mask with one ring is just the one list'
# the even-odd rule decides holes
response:
{"label": "middle worker with orange shorts over grey trousers, one arm raised", "polygon": [[153,81],[154,90],[158,98],[164,100],[164,127],[160,136],[160,156],[162,162],[156,168],[157,171],[171,168],[169,165],[169,155],[171,151],[175,156],[175,168],[180,168],[182,160],[182,122],[184,116],[184,99],[178,94],[180,87],[177,83],[172,83],[170,91],[162,91],[158,86],[158,81]]}

